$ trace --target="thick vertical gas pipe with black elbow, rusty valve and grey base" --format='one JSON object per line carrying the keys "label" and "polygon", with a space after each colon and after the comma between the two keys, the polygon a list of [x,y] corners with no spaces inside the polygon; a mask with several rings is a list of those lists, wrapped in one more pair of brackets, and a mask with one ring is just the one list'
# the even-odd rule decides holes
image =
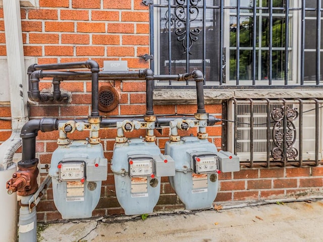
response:
{"label": "thick vertical gas pipe with black elbow, rusty valve and grey base", "polygon": [[39,130],[49,132],[57,129],[58,119],[42,118],[30,120],[21,130],[22,160],[18,162],[18,171],[7,181],[8,194],[17,192],[21,196],[19,210],[19,241],[21,242],[37,240],[36,207],[29,207],[29,200],[38,189],[36,136]]}

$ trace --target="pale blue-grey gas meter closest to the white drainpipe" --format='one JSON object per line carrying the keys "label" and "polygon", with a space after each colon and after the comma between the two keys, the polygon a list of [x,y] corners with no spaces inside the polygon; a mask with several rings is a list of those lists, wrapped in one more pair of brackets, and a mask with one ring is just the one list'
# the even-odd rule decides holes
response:
{"label": "pale blue-grey gas meter closest to the white drainpipe", "polygon": [[60,145],[52,153],[49,175],[54,203],[62,218],[91,217],[107,175],[102,145],[85,140]]}

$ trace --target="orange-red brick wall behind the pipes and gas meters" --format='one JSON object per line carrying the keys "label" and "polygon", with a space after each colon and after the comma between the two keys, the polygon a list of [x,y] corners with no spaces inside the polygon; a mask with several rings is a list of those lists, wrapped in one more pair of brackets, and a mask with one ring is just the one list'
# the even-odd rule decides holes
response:
{"label": "orange-red brick wall behind the pipes and gas meters", "polygon": [[[24,54],[36,56],[38,64],[85,61],[91,57],[100,67],[103,60],[126,60],[131,70],[149,68],[138,57],[149,53],[148,7],[141,0],[39,0],[39,9],[21,10]],[[6,55],[3,11],[0,9],[0,55]],[[145,82],[101,82],[112,85],[120,93],[116,109],[101,115],[143,114],[145,112]],[[50,88],[50,80],[40,83],[40,89]],[[30,118],[59,117],[63,119],[86,118],[90,111],[91,82],[64,81],[62,89],[72,92],[71,103],[30,103]],[[49,104],[49,105],[48,105]],[[194,113],[196,105],[155,105],[156,114]],[[221,117],[221,104],[206,105],[206,111]],[[2,103],[0,117],[10,117],[10,105]],[[11,123],[0,121],[0,141],[11,135]],[[209,141],[221,147],[221,125],[208,127]],[[196,130],[180,132],[180,135],[196,134]],[[101,130],[104,155],[111,159],[116,130]],[[164,135],[155,132],[157,144],[164,150],[169,130]],[[144,136],[145,131],[134,131],[127,137]],[[87,132],[75,132],[71,139],[85,139]],[[58,132],[41,133],[37,137],[36,151],[41,163],[50,163],[51,152],[57,148]],[[118,204],[114,178],[109,167],[108,178],[103,181],[101,199],[93,216],[109,216],[123,213]],[[45,174],[42,173],[42,177]],[[273,198],[298,198],[318,194],[322,187],[323,167],[305,168],[243,168],[240,172],[220,175],[220,191],[217,202],[234,200],[258,200]],[[37,206],[40,221],[60,219],[49,188]],[[156,211],[183,208],[167,177],[162,178],[161,195]]]}

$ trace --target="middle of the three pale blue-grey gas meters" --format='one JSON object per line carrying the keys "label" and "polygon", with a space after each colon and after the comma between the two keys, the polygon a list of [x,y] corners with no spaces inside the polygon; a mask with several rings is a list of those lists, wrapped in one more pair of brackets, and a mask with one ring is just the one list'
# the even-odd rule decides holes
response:
{"label": "middle of the three pale blue-grey gas meters", "polygon": [[117,199],[126,215],[151,213],[159,199],[160,177],[175,175],[172,157],[143,139],[116,143],[111,163]]}

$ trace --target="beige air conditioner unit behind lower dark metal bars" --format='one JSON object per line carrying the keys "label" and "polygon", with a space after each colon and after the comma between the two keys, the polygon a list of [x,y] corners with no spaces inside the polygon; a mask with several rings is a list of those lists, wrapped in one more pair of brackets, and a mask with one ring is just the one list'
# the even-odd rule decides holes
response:
{"label": "beige air conditioner unit behind lower dark metal bars", "polygon": [[322,159],[322,104],[317,99],[232,99],[226,148],[249,166],[316,165]]}

